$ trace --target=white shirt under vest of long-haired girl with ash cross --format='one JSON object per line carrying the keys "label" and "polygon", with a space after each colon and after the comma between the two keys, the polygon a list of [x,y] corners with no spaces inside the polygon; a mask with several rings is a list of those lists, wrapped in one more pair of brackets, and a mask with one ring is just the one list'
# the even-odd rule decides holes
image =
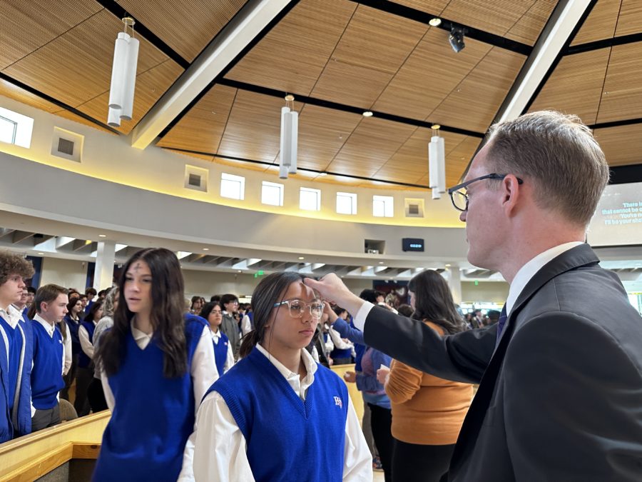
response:
{"label": "white shirt under vest of long-haired girl with ash cross", "polygon": [[[216,362],[214,358],[214,346],[212,345],[212,338],[209,335],[210,328],[207,326],[203,327],[203,333],[201,333],[198,340],[198,345],[194,351],[194,356],[192,358],[192,364],[190,366],[190,375],[192,376],[192,383],[194,389],[194,413],[198,414],[198,407],[200,401],[203,399],[205,392],[208,391],[212,383],[218,380],[218,371],[216,369]],[[149,342],[153,337],[153,333],[147,334],[143,331],[138,330],[133,326],[133,320],[131,321],[131,334],[134,341],[138,345],[138,348],[144,350],[147,348]],[[105,392],[105,401],[107,406],[111,411],[113,407],[116,406],[116,401],[113,398],[113,392],[109,386],[109,381],[106,373],[101,369],[101,383],[103,385],[103,391]],[[196,426],[194,426],[196,429]],[[183,453],[183,468],[180,471],[178,476],[179,482],[193,481],[194,475],[192,472],[192,460],[194,455],[194,443],[190,439],[185,444],[185,451]]]}

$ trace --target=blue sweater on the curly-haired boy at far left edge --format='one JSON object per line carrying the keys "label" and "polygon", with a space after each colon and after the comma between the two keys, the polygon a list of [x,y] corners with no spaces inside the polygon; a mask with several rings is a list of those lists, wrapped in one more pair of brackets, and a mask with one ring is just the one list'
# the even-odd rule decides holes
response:
{"label": "blue sweater on the curly-haired boy at far left edge", "polygon": [[[9,338],[9,356],[0,336],[0,443],[31,433],[31,359],[33,356],[33,334],[31,322],[19,321],[14,336],[19,338],[17,363],[11,351],[11,336],[5,328],[8,323],[0,318],[1,326]],[[24,350],[23,350],[24,348]],[[7,364],[7,358],[14,362]],[[10,380],[13,380],[11,382]],[[11,393],[11,396],[10,396]],[[17,394],[17,397],[16,397]],[[16,403],[17,402],[17,403]],[[10,408],[11,407],[11,408]]]}

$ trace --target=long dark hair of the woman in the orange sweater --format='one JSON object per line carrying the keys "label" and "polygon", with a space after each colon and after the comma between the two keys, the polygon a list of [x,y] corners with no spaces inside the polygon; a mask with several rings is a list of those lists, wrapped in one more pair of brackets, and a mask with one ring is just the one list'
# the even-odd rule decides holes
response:
{"label": "long dark hair of the woman in the orange sweater", "polygon": [[414,276],[408,283],[414,293],[412,318],[432,321],[450,335],[464,331],[464,322],[455,309],[452,293],[446,280],[432,269]]}

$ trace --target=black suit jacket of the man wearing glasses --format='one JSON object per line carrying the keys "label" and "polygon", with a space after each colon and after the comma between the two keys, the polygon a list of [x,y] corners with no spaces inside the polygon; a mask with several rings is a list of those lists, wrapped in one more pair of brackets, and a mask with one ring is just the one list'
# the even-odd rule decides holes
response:
{"label": "black suit jacket of the man wearing glasses", "polygon": [[479,383],[451,481],[642,481],[642,318],[586,245],[546,264],[497,325],[438,336],[375,306],[365,342]]}

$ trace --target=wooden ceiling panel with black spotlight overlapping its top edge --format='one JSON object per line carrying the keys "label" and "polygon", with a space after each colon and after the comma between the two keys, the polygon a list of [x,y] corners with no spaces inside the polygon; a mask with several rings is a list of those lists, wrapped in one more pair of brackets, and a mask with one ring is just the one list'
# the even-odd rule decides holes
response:
{"label": "wooden ceiling panel with black spotlight overlapping its top edge", "polygon": [[455,54],[441,29],[429,29],[394,79],[383,91],[374,110],[412,119],[429,119],[434,109],[457,88],[492,48],[468,40]]}

